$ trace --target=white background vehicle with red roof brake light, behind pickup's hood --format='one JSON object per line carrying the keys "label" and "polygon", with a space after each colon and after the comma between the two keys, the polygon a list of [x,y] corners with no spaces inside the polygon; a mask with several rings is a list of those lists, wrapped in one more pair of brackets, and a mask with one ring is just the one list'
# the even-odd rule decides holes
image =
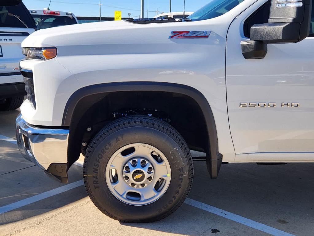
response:
{"label": "white background vehicle with red roof brake light, behind pickup's hood", "polygon": [[76,25],[78,19],[73,13],[51,11],[51,10],[30,10],[38,29],[43,30],[62,25]]}

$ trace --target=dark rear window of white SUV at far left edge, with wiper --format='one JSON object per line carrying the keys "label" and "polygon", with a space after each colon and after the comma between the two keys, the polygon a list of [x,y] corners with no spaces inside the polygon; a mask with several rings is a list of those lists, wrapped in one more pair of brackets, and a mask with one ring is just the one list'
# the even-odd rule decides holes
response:
{"label": "dark rear window of white SUV at far left edge, with wiper", "polygon": [[13,0],[0,3],[0,27],[35,28],[35,25],[23,3]]}

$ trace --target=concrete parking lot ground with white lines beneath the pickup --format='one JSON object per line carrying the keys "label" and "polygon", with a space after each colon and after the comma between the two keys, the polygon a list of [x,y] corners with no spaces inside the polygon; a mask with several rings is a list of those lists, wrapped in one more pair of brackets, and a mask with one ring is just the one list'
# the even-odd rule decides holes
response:
{"label": "concrete parking lot ground with white lines beneath the pickup", "polygon": [[227,164],[210,180],[194,163],[191,193],[170,217],[125,224],[89,200],[78,162],[60,184],[25,160],[15,142],[19,111],[0,112],[0,235],[308,235],[314,233],[314,163]]}

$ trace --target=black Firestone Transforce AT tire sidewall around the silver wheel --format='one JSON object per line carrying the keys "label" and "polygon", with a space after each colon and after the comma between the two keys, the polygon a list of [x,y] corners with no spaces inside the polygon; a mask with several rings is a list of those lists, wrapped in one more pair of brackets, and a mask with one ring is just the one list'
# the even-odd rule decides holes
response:
{"label": "black Firestone Transforce AT tire sidewall around the silver wheel", "polygon": [[[94,201],[110,215],[125,221],[150,221],[171,211],[186,196],[190,175],[187,157],[180,145],[168,134],[151,127],[132,126],[104,135],[102,139],[98,138],[91,143],[85,158],[85,177]],[[121,147],[133,143],[156,147],[166,156],[171,167],[171,181],[165,194],[148,205],[123,203],[111,193],[106,183],[106,167],[111,156]]]}

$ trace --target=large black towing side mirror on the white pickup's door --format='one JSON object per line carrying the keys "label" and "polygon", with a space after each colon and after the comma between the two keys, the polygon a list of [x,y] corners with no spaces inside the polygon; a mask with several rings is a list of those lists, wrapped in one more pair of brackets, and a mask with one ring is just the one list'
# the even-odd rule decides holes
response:
{"label": "large black towing side mirror on the white pickup's door", "polygon": [[312,0],[272,0],[268,23],[253,25],[250,41],[241,41],[244,58],[264,58],[266,44],[305,39],[310,34],[311,10]]}

